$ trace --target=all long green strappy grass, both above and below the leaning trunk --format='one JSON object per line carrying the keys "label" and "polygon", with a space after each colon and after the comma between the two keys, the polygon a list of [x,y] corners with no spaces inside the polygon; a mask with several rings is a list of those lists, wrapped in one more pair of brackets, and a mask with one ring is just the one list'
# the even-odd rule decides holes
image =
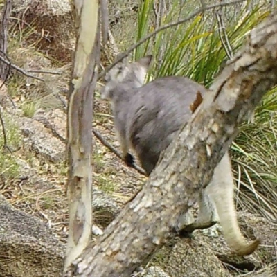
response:
{"label": "all long green strappy grass, both above and below the leaning trunk", "polygon": [[[154,0],[144,1],[139,11],[138,41],[159,28],[155,25],[153,3]],[[189,3],[186,1],[181,9],[179,1],[173,1],[160,25],[190,15]],[[236,13],[235,8],[229,6],[223,8],[222,13],[225,15],[224,26],[217,24],[215,12],[205,12],[185,24],[163,30],[136,49],[134,60],[151,53],[154,64],[150,73],[154,78],[183,75],[208,87],[224,62],[229,60],[222,36],[227,37],[231,54],[237,52],[249,30],[265,19],[269,10],[260,3],[252,10],[245,6]],[[219,33],[222,27],[225,31]],[[277,216],[276,111],[277,89],[273,89],[257,107],[255,122],[241,126],[240,135],[232,146],[240,207],[262,213],[270,219]]]}

